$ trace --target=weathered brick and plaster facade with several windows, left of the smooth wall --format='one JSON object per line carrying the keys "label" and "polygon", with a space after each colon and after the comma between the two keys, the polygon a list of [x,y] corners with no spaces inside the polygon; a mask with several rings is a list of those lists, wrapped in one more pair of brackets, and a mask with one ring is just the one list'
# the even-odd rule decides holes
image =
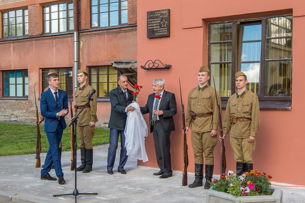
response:
{"label": "weathered brick and plaster facade with several windows, left of the smooth wall", "polygon": [[[107,125],[117,77],[134,70],[128,77],[137,79],[130,68],[137,60],[137,1],[2,0],[0,13],[0,120],[36,120],[34,87],[40,98],[49,69],[59,72],[60,87],[72,95],[76,15],[79,68],[88,71],[88,83],[97,90],[97,126]],[[125,67],[115,68],[121,61]]]}

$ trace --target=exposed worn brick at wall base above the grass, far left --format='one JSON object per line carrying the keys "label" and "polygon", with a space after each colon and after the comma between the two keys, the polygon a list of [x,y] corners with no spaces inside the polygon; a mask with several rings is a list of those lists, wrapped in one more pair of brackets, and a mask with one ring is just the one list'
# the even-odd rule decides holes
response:
{"label": "exposed worn brick at wall base above the grass, far left", "polygon": [[36,122],[34,102],[29,100],[0,100],[0,121],[16,119],[23,122]]}

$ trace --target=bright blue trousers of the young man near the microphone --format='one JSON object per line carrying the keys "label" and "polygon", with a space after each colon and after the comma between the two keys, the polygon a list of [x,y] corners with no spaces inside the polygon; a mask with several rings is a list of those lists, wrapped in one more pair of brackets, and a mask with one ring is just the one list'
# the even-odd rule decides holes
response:
{"label": "bright blue trousers of the young man near the microphone", "polygon": [[63,127],[59,123],[55,132],[46,132],[46,134],[49,142],[49,150],[45,157],[45,166],[41,169],[41,176],[45,176],[51,171],[52,164],[54,165],[56,176],[63,176],[63,169],[61,168],[61,160],[59,158],[59,143],[63,136]]}

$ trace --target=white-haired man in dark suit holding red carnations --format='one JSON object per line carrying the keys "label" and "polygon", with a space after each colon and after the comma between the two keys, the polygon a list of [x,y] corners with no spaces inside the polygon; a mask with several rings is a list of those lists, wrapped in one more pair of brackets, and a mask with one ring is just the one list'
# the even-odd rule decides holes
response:
{"label": "white-haired man in dark suit holding red carnations", "polygon": [[[170,132],[175,130],[173,116],[177,113],[175,94],[165,91],[164,85],[164,79],[155,79],[152,82],[154,93],[148,96],[145,107],[140,107],[142,114],[149,113],[150,133],[153,135],[157,163],[160,168],[160,171],[153,175],[161,175],[159,178],[169,178],[173,175],[170,159]],[[157,95],[161,96],[158,106],[155,105]],[[156,119],[151,124],[153,114]]]}

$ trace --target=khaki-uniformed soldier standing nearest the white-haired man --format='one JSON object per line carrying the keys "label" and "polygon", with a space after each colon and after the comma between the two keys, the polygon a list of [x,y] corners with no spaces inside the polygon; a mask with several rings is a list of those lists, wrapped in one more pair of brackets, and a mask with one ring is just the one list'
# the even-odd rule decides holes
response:
{"label": "khaki-uniformed soldier standing nearest the white-haired man", "polygon": [[[217,129],[219,125],[218,108],[216,103],[220,100],[215,89],[208,84],[210,71],[206,66],[200,67],[198,73],[199,86],[188,93],[188,104],[186,109],[186,130],[191,123],[191,140],[195,158],[195,181],[188,187],[201,187],[203,183],[203,153],[206,160],[206,183],[204,189],[210,188],[214,170],[214,147],[217,144]],[[221,103],[220,103],[221,107]]]}

